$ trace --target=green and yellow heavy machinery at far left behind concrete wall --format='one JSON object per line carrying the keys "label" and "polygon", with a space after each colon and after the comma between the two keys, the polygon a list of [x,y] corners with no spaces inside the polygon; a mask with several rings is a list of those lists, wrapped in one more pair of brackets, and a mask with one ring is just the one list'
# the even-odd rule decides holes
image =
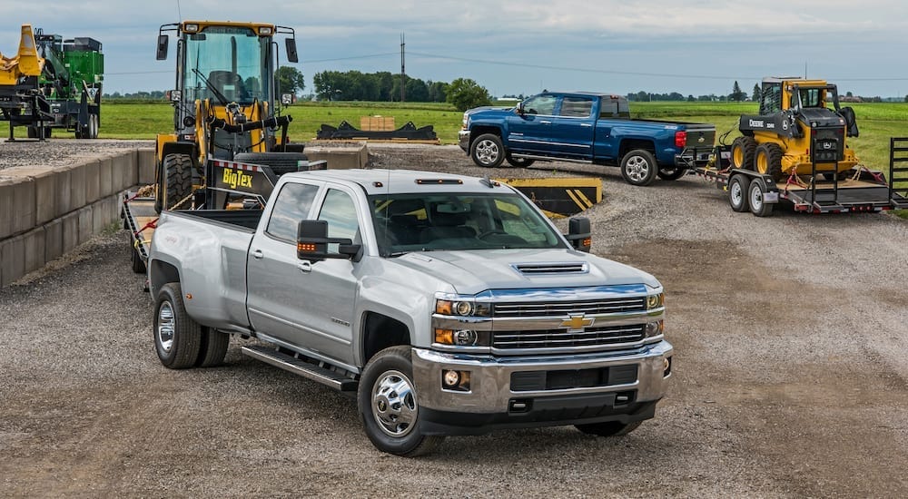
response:
{"label": "green and yellow heavy machinery at far left behind concrete wall", "polygon": [[23,24],[18,52],[0,54],[0,118],[9,122],[9,139],[16,126],[26,126],[29,138],[50,137],[54,128],[97,138],[103,81],[100,42]]}

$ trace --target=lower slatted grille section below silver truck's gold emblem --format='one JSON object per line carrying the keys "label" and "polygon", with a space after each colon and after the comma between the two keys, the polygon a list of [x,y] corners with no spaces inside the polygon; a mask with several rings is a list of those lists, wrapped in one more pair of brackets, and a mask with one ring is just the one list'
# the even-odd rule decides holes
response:
{"label": "lower slatted grille section below silver truck's gold emblem", "polygon": [[493,331],[492,347],[502,350],[522,348],[600,347],[634,343],[644,338],[645,325],[585,328],[583,331],[544,329]]}

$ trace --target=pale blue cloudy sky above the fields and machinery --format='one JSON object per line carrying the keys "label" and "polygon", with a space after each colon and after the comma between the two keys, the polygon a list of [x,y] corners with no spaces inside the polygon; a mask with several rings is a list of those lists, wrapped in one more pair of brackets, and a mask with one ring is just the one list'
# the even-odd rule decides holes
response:
{"label": "pale blue cloudy sky above the fields and machinery", "polygon": [[805,74],[842,94],[908,95],[908,2],[897,0],[44,0],[3,11],[7,56],[21,24],[101,41],[105,93],[173,87],[173,41],[167,61],[154,59],[161,24],[232,20],[296,31],[300,63],[289,65],[305,75],[303,93],[322,71],[400,73],[403,34],[409,76],[470,78],[498,97],[719,95],[735,81],[750,93],[765,76]]}

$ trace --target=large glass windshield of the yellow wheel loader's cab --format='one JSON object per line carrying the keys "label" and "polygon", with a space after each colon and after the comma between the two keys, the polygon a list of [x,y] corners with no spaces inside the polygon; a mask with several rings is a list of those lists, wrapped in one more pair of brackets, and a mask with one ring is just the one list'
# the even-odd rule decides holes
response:
{"label": "large glass windshield of the yellow wheel loader's cab", "polygon": [[202,33],[186,34],[183,92],[191,101],[217,101],[216,93],[205,84],[208,79],[228,102],[269,102],[270,41],[241,26],[208,26]]}

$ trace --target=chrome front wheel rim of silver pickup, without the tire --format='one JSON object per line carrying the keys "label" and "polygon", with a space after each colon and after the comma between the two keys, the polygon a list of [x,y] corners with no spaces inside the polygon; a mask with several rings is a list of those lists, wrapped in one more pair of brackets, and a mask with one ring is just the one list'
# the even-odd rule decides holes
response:
{"label": "chrome front wheel rim of silver pickup, without the tire", "polygon": [[396,438],[409,434],[419,416],[416,390],[410,379],[396,370],[386,371],[376,380],[371,406],[381,431]]}

